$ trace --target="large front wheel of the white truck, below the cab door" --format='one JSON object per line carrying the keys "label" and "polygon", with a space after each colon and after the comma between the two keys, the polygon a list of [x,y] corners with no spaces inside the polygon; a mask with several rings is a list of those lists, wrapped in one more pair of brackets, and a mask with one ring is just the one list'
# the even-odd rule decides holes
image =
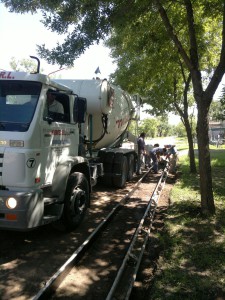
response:
{"label": "large front wheel of the white truck, below the cab door", "polygon": [[70,175],[65,194],[63,223],[68,230],[75,229],[83,220],[89,205],[89,186],[84,174]]}

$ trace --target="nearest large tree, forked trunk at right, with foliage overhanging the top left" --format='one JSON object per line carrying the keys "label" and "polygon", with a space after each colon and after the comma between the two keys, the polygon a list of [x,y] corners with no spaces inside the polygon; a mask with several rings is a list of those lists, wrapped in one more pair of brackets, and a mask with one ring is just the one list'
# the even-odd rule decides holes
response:
{"label": "nearest large tree, forked trunk at right, with foliage overhanging the top left", "polygon": [[[71,1],[18,1],[1,0],[17,12],[41,9],[44,24],[59,34],[65,34],[62,45],[45,49],[40,54],[48,62],[72,65],[76,57],[94,42],[109,36],[114,28],[123,28],[139,17],[141,22],[146,13],[152,13],[152,22],[161,26],[151,36],[157,40],[166,36],[174,45],[190,72],[194,98],[198,109],[197,137],[199,148],[199,173],[202,213],[215,212],[212,191],[212,174],[208,137],[208,112],[213,95],[225,72],[225,1],[224,0],[71,0]],[[143,18],[142,18],[143,16]],[[138,36],[136,36],[138,39]],[[168,39],[167,39],[168,41]],[[136,41],[134,40],[134,43]],[[139,49],[139,52],[142,49]],[[156,51],[160,51],[157,49]],[[138,55],[138,53],[136,55]],[[175,52],[173,52],[175,53]],[[146,53],[146,62],[148,55]],[[129,63],[129,62],[127,62]],[[163,61],[162,61],[163,65]],[[143,67],[143,66],[142,66]],[[207,81],[204,76],[207,77]],[[160,79],[160,78],[159,78]],[[140,78],[143,81],[143,78]]]}

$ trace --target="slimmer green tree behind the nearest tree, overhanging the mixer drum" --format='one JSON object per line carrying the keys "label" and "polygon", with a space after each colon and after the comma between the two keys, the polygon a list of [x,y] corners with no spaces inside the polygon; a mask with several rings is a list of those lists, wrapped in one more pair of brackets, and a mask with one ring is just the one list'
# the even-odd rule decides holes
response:
{"label": "slimmer green tree behind the nearest tree, overhanging the mixer drum", "polygon": [[[123,28],[114,26],[107,41],[118,65],[112,79],[123,89],[144,96],[145,102],[152,106],[148,110],[151,115],[165,115],[165,111],[180,115],[189,143],[190,171],[196,173],[193,128],[188,113],[194,103],[189,92],[190,72],[168,40],[165,29],[161,28],[159,18],[152,25],[154,14],[154,11],[146,11],[141,18],[136,16]],[[142,51],[137,55],[140,49]],[[162,126],[164,122],[162,118]]]}

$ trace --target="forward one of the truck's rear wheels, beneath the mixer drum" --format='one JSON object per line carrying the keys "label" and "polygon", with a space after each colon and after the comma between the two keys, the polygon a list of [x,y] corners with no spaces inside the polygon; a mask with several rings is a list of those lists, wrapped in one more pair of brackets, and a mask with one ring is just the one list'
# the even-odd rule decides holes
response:
{"label": "forward one of the truck's rear wheels, beneath the mixer drum", "polygon": [[[122,153],[117,153],[113,162],[113,184],[115,187],[124,187],[127,181],[128,162],[127,157]],[[120,175],[118,175],[120,174]]]}

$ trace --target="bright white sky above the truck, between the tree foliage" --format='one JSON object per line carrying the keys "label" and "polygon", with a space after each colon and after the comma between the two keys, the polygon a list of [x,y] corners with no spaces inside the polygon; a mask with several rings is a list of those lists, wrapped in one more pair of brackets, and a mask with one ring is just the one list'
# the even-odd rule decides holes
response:
{"label": "bright white sky above the truck, between the tree foliage", "polygon": [[[40,22],[41,14],[16,14],[0,4],[0,69],[10,70],[9,62],[12,57],[16,60],[29,59],[30,55],[37,56],[36,45],[46,44],[50,49],[62,38],[53,33]],[[45,74],[59,70],[57,65],[49,65],[40,57],[41,69]],[[116,65],[110,57],[110,50],[103,45],[91,46],[74,63],[72,69],[57,72],[61,78],[91,79],[95,70],[99,67],[101,78],[109,78],[110,73],[116,69]]]}

